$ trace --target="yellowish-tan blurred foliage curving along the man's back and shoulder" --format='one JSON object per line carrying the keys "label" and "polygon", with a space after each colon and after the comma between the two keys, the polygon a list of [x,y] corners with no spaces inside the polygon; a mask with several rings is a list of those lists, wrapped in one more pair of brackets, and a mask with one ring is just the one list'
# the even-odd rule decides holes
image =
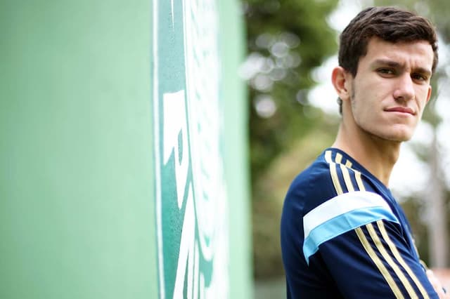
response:
{"label": "yellowish-tan blurred foliage curving along the man's back and shoulder", "polygon": [[285,193],[293,178],[333,142],[336,130],[335,121],[320,119],[311,131],[297,138],[292,147],[278,155],[255,182],[253,267],[257,279],[283,274],[279,243]]}

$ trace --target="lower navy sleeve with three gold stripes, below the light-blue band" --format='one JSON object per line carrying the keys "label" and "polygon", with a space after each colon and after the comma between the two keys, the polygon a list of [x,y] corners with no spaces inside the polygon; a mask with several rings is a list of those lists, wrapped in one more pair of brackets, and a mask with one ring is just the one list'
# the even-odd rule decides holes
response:
{"label": "lower navy sleeve with three gold stripes, below the light-blue band", "polygon": [[368,222],[318,251],[345,298],[438,298],[396,222]]}

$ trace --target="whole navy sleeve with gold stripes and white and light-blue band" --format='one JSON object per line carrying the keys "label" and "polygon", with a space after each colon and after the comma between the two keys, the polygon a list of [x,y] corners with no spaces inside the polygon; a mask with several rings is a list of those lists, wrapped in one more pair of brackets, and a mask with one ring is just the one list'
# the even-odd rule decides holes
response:
{"label": "whole navy sleeve with gold stripes and white and light-blue band", "polygon": [[438,298],[385,199],[339,153],[326,161],[338,195],[304,215],[307,263],[319,252],[345,298]]}

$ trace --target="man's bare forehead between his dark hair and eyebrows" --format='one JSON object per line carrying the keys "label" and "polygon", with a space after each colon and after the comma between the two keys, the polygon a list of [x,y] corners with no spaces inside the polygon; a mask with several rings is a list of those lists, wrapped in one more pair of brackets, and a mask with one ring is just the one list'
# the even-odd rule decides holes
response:
{"label": "man's bare forehead between his dark hair and eyebrows", "polygon": [[432,69],[434,53],[428,41],[401,41],[391,43],[373,37],[367,45],[367,53],[359,60],[360,64],[374,60],[392,60],[409,67]]}

